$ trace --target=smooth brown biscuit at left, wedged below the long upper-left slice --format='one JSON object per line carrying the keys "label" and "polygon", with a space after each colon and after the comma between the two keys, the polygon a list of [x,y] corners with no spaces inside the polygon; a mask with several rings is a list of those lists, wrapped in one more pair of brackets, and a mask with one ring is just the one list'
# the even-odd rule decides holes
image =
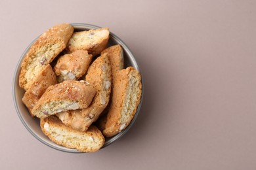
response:
{"label": "smooth brown biscuit at left, wedged below the long upper-left slice", "polygon": [[47,65],[37,78],[35,78],[35,82],[33,82],[22,98],[23,103],[26,105],[32,116],[34,116],[32,114],[32,109],[37,101],[43,93],[45,93],[45,90],[54,84],[57,84],[56,75],[54,74],[51,65]]}

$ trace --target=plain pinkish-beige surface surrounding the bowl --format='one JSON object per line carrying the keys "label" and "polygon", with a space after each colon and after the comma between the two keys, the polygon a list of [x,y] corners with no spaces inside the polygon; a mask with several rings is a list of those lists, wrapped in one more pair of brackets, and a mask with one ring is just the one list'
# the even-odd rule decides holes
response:
{"label": "plain pinkish-beige surface surrounding the bowl", "polygon": [[[0,169],[256,169],[256,1],[0,1]],[[52,25],[108,26],[144,78],[138,120],[93,154],[45,146],[20,122],[12,78]]]}

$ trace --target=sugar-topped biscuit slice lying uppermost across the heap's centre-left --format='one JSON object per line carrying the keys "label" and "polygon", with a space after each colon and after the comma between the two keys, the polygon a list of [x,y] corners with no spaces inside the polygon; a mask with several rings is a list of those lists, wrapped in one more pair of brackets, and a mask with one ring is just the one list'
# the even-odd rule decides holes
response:
{"label": "sugar-topped biscuit slice lying uppermost across the heap's centre-left", "polygon": [[57,112],[85,109],[91,104],[95,93],[95,88],[84,80],[66,80],[47,88],[33,107],[32,114],[45,118]]}

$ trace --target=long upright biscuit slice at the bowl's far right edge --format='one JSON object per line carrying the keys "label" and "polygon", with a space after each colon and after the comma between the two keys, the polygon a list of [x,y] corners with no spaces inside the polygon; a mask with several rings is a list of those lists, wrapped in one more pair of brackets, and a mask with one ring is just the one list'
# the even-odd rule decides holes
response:
{"label": "long upright biscuit slice at the bowl's far right edge", "polygon": [[116,135],[129,125],[140,103],[141,88],[140,73],[135,68],[127,67],[117,73],[112,103],[103,131],[106,137]]}

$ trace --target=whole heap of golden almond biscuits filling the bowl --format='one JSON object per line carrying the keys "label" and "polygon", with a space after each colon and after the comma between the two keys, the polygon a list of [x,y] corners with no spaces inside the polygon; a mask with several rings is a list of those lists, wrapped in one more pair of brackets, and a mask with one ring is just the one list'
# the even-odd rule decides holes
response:
{"label": "whole heap of golden almond biscuits filling the bowl", "polygon": [[33,43],[21,65],[22,101],[56,144],[95,152],[133,119],[141,77],[124,69],[123,49],[108,46],[108,28],[74,32],[58,24]]}

